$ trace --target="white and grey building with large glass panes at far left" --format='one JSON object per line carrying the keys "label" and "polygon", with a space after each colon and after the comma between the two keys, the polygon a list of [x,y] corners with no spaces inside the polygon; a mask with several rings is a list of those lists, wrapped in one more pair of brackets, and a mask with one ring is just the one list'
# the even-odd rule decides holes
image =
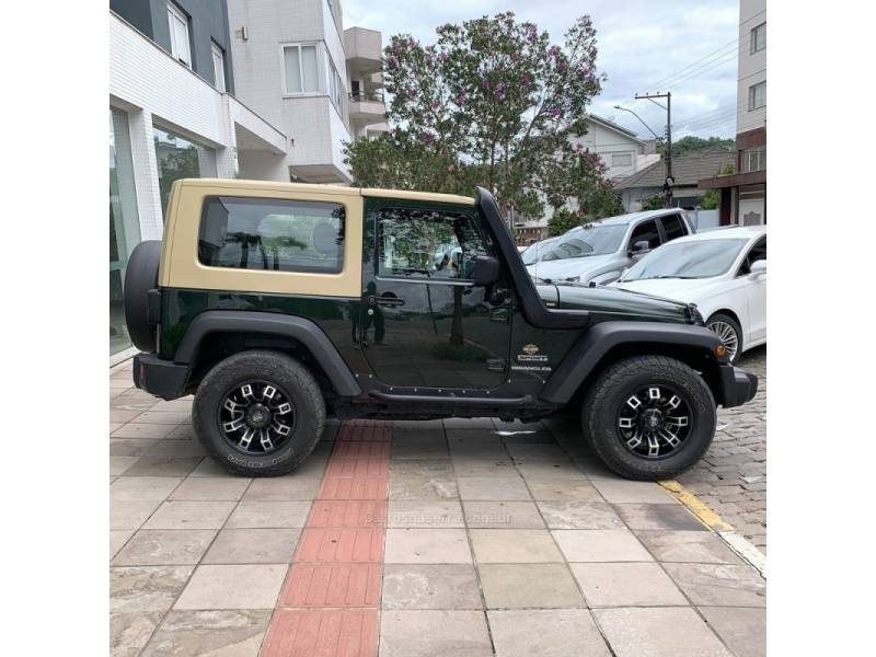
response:
{"label": "white and grey building with large glass panes at far left", "polygon": [[[159,240],[181,177],[264,177],[245,165],[281,158],[287,136],[237,99],[221,1],[110,2],[110,353],[130,350],[125,267]],[[278,177],[278,180],[288,180]]]}

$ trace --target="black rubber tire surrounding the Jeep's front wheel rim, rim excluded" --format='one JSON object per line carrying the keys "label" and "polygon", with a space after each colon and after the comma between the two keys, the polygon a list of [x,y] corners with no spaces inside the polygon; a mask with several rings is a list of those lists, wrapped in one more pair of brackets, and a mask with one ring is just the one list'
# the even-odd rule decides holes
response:
{"label": "black rubber tire surrounding the Jeep's front wheel rim, rim excluded", "polygon": [[[636,390],[655,384],[675,388],[692,415],[685,440],[659,460],[633,453],[618,429],[621,405]],[[671,479],[696,463],[712,445],[716,417],[715,400],[703,378],[666,356],[635,356],[611,365],[589,387],[581,407],[586,440],[602,462],[623,477],[643,481]]]}

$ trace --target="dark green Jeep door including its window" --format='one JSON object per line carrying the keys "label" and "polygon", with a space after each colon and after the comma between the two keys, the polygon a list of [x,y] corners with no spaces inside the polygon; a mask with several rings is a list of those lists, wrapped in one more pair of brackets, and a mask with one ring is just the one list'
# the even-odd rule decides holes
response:
{"label": "dark green Jeep door including its window", "polygon": [[472,280],[489,253],[472,206],[367,198],[356,346],[389,385],[485,389],[506,378],[510,301]]}

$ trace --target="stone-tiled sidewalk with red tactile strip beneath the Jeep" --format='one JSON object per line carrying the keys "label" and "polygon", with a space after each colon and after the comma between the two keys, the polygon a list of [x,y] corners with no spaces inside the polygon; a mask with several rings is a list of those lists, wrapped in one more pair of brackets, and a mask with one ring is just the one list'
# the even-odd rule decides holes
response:
{"label": "stone-tiled sidewalk with red tactile strip beneath the Jeep", "polygon": [[332,423],[250,480],[110,379],[113,655],[765,653],[765,581],[574,427]]}

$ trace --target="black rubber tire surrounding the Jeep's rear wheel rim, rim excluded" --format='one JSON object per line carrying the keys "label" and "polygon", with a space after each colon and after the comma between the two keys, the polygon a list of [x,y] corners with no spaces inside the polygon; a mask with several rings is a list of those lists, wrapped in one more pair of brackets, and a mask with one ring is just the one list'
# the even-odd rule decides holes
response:
{"label": "black rubber tire surrounding the Jeep's rear wheel rim, rim excluded", "polygon": [[[235,385],[267,381],[292,404],[296,422],[288,439],[268,454],[243,454],[226,440],[219,408]],[[226,470],[246,476],[277,476],[298,468],[313,451],[325,426],[325,402],[313,376],[299,361],[277,351],[251,350],[229,356],[200,382],[192,422],[204,449]]]}

